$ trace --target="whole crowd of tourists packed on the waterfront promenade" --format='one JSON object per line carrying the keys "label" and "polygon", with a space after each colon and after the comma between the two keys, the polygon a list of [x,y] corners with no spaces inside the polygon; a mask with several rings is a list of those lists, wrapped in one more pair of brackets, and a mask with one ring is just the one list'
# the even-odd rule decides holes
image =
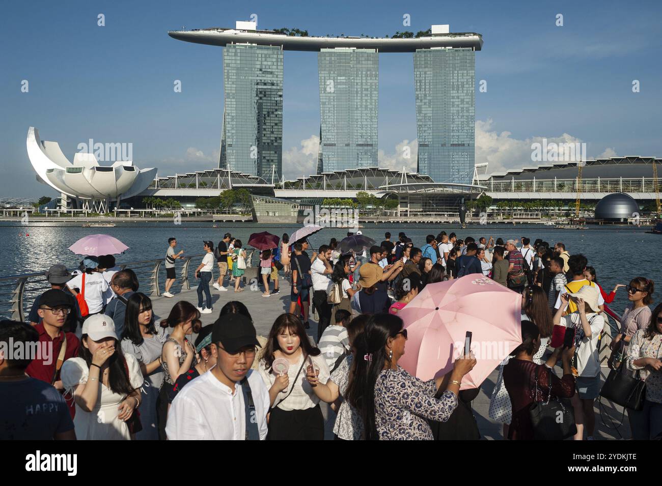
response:
{"label": "whole crowd of tourists packed on the waterfront promenade", "polygon": [[[176,247],[170,238],[166,298],[175,296],[183,254]],[[28,323],[0,322],[0,394],[14,397],[0,403],[0,439],[322,440],[320,403],[338,440],[478,439],[471,402],[479,388],[460,391],[477,363],[473,353],[428,381],[399,365],[402,309],[428,286],[471,275],[522,297],[522,343],[498,367],[489,407],[504,438],[538,437],[530,411],[555,400],[573,410],[574,439],[592,440],[606,336],[610,368],[645,382],[643,406],[627,409],[632,437],[662,438],[662,304],[651,310],[649,278],[606,293],[585,255],[527,237],[441,231],[414,242],[385,233],[379,245],[343,251],[332,239],[312,251],[307,239],[283,235],[261,251],[258,278],[265,298],[279,294],[279,276],[289,280],[289,306],[263,338],[238,300],[203,327],[201,315],[217,312],[213,290],[242,292],[250,266],[230,233],[217,245],[204,241],[203,250],[197,305],[179,300],[159,322],[135,272],[112,255],[85,257],[73,273],[51,266],[51,288],[34,300]],[[610,333],[605,304],[620,287],[628,305],[620,332]],[[316,335],[307,331],[311,302]],[[552,347],[560,328],[574,337]],[[9,352],[17,343],[50,352]]]}

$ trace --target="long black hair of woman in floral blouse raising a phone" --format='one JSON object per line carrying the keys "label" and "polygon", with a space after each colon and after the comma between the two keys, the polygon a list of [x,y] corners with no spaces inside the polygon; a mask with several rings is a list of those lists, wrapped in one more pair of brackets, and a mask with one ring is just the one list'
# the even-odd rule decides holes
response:
{"label": "long black hair of woman in floral blouse raising a phone", "polygon": [[402,331],[402,325],[402,319],[397,315],[373,314],[365,323],[363,333],[354,339],[356,354],[346,398],[361,414],[365,440],[379,439],[375,424],[375,384],[385,366],[391,366],[386,344],[389,337],[395,338]]}

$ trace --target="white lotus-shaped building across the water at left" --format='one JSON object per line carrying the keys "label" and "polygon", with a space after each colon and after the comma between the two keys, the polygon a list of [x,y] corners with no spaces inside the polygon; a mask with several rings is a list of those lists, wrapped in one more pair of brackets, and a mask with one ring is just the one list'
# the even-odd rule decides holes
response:
{"label": "white lotus-shaped building across the water at left", "polygon": [[[58,142],[39,138],[39,130],[30,127],[27,138],[28,157],[37,179],[66,196],[92,202],[127,199],[145,190],[158,169],[138,169],[132,161],[117,161],[111,166],[99,165],[93,153],[79,152],[73,163],[62,153]],[[64,196],[63,196],[64,197]],[[85,206],[85,202],[82,204]]]}

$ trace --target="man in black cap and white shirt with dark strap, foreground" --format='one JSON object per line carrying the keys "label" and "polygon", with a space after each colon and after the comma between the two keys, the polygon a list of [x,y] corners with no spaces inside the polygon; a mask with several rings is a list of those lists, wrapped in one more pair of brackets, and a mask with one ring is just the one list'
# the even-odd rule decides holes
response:
{"label": "man in black cap and white shirt with dark strap, foreground", "polygon": [[253,323],[242,314],[222,315],[211,340],[216,366],[177,393],[168,440],[265,440],[269,391],[250,369],[260,346]]}

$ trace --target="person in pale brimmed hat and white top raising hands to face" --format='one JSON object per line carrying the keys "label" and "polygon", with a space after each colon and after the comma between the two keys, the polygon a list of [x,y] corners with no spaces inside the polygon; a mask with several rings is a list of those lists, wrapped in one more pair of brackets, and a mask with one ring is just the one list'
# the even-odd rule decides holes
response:
{"label": "person in pale brimmed hat and white top raising hands to face", "polygon": [[[598,308],[598,295],[595,287],[583,286],[577,292],[563,294],[561,307],[554,314],[554,324],[575,328],[577,350],[577,393],[573,395],[575,409],[575,440],[583,440],[584,427],[587,439],[592,440],[595,430],[594,401],[600,393],[600,333],[604,329],[604,317]],[[563,312],[570,300],[577,305],[577,310],[563,317]]]}

